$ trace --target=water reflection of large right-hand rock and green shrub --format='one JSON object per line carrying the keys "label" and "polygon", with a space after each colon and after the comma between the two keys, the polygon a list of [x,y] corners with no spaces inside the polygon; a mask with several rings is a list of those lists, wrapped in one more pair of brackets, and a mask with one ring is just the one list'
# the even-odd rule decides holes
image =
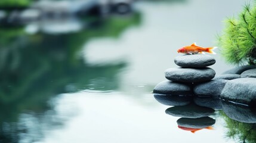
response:
{"label": "water reflection of large right-hand rock and green shrub", "polygon": [[227,138],[236,142],[256,142],[256,109],[223,101],[221,116],[226,122]]}

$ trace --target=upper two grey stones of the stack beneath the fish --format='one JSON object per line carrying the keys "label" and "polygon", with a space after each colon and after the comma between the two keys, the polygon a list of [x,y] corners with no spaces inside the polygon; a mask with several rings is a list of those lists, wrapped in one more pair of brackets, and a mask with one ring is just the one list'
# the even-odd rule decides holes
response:
{"label": "upper two grey stones of the stack beneath the fish", "polygon": [[215,59],[209,55],[180,55],[174,59],[174,63],[180,67],[165,71],[166,79],[174,82],[206,82],[215,76],[215,71],[207,67],[215,63]]}

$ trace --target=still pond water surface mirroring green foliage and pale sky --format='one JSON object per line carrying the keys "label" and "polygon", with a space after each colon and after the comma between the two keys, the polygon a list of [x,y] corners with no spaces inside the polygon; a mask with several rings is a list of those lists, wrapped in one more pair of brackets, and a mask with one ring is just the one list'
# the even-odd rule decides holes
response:
{"label": "still pond water surface mirroring green foliage and pale sky", "polygon": [[[176,50],[216,45],[222,21],[243,4],[140,1],[134,13],[79,32],[2,29],[0,142],[255,142],[255,124],[222,110],[209,115],[213,129],[179,129],[180,117],[152,95],[165,69],[176,67]],[[217,74],[232,68],[212,56]],[[240,120],[245,111],[255,117],[249,108],[226,107]]]}

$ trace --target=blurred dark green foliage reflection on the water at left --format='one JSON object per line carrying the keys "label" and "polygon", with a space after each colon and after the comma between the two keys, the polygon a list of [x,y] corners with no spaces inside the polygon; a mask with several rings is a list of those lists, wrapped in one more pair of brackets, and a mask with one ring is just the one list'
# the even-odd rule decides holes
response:
{"label": "blurred dark green foliage reflection on the water at left", "polygon": [[0,28],[0,142],[39,141],[44,137],[43,126],[49,125],[45,130],[50,130],[51,125],[61,125],[63,120],[54,117],[55,104],[47,103],[58,94],[91,84],[95,90],[118,89],[117,75],[127,66],[125,61],[89,65],[79,52],[91,38],[118,37],[139,23],[140,14],[135,13],[64,35],[28,35],[23,27]]}

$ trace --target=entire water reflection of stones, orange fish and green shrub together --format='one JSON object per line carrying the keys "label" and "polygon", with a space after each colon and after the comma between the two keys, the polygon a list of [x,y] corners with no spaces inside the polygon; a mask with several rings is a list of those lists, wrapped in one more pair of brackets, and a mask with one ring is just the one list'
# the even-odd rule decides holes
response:
{"label": "entire water reflection of stones, orange fish and green shrub together", "polygon": [[[235,142],[256,142],[256,108],[222,101],[218,97],[158,95],[154,97],[167,108],[165,113],[175,117],[178,128],[195,133],[201,129],[213,129],[215,119],[225,121],[227,138]],[[180,102],[180,104],[178,103]],[[214,111],[218,110],[218,111]],[[210,116],[210,117],[209,117]]]}

